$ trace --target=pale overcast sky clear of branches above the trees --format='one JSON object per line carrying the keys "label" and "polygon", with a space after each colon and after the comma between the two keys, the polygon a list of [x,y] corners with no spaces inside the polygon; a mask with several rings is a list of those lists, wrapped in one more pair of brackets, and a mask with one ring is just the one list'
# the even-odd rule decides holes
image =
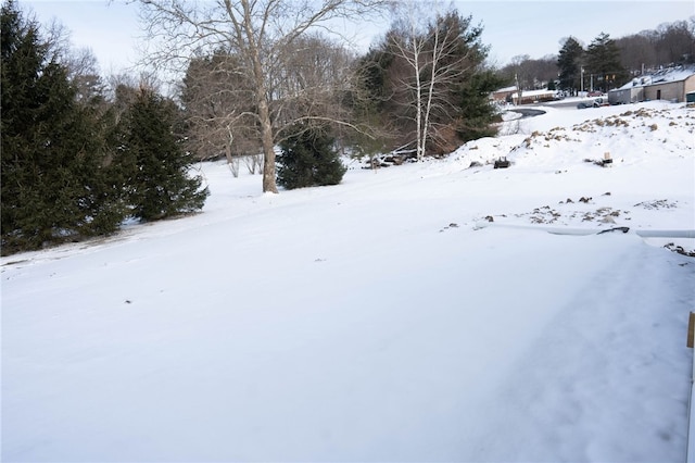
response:
{"label": "pale overcast sky clear of branches above the trees", "polygon": [[[104,74],[118,73],[140,58],[138,43],[143,33],[135,4],[123,0],[18,0],[18,4],[34,11],[41,23],[55,18],[67,27],[73,45],[90,48]],[[491,47],[489,59],[497,65],[518,55],[538,59],[557,54],[561,39],[568,36],[586,46],[601,33],[620,38],[695,16],[693,0],[458,0],[452,4],[483,26],[482,41]],[[381,25],[359,24],[354,32],[366,49],[388,25],[388,20]]]}

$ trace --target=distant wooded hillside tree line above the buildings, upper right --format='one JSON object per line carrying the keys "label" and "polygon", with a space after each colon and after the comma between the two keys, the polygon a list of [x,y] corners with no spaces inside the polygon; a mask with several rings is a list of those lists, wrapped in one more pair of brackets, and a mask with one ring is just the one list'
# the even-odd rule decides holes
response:
{"label": "distant wooded hillside tree line above the buildings, upper right", "polygon": [[695,17],[617,39],[602,33],[586,47],[571,36],[560,42],[557,55],[514,57],[500,74],[523,90],[607,91],[645,72],[695,64]]}

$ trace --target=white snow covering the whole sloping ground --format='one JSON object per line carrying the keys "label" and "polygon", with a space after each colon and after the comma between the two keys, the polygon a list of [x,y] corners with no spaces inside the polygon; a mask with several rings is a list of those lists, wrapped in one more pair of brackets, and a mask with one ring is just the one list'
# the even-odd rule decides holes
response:
{"label": "white snow covering the whole sloping ground", "polygon": [[695,113],[542,109],[2,258],[2,461],[684,461]]}

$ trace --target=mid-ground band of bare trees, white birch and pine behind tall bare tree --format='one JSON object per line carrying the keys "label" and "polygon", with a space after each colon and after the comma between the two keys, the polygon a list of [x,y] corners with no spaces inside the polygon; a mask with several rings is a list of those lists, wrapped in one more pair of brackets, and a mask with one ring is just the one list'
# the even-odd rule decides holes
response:
{"label": "mid-ground band of bare trees, white birch and pine behind tall bare tree", "polygon": [[[390,29],[364,55],[318,34],[269,47],[266,71],[257,74],[250,72],[251,50],[228,43],[199,52],[186,63],[180,92],[198,152],[224,153],[230,163],[260,152],[267,160],[271,147],[311,129],[353,153],[396,151],[421,160],[493,135],[488,96],[502,79],[484,65],[482,28],[455,10],[421,24],[427,14],[416,9],[404,3],[394,12]],[[265,178],[264,190],[275,191],[274,182]]]}

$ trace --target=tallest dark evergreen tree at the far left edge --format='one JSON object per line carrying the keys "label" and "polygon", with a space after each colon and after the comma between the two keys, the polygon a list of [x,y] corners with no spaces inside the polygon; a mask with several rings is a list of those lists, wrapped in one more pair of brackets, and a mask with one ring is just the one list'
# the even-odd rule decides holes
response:
{"label": "tallest dark evergreen tree at the far left edge", "polygon": [[98,120],[13,1],[1,29],[2,252],[116,229],[123,216],[106,188]]}

